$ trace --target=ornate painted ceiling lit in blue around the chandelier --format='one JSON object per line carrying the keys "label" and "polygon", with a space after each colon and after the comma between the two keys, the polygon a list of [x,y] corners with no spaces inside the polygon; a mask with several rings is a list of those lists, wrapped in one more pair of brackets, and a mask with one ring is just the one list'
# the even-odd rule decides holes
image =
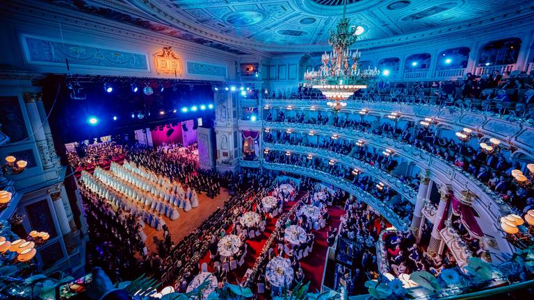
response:
{"label": "ornate painted ceiling lit in blue around the chandelier", "polygon": [[[343,0],[43,1],[236,54],[320,51],[343,10]],[[365,28],[362,42],[380,44],[460,30],[457,25],[487,26],[488,19],[529,6],[528,0],[348,0],[347,16]]]}

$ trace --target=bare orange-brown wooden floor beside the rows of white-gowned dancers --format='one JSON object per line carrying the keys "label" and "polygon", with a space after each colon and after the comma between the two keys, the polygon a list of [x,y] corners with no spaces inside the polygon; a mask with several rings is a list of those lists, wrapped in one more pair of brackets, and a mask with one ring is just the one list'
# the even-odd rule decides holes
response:
{"label": "bare orange-brown wooden floor beside the rows of white-gowned dancers", "polygon": [[[168,217],[163,217],[169,228],[172,242],[178,244],[188,233],[202,225],[205,219],[219,207],[223,207],[225,201],[229,199],[228,190],[220,188],[220,194],[215,199],[210,199],[205,193],[198,197],[198,207],[192,208],[187,213],[179,210],[180,217],[171,221]],[[147,249],[149,254],[156,251],[156,244],[163,240],[163,231],[156,231],[156,228],[145,226],[147,235]]]}

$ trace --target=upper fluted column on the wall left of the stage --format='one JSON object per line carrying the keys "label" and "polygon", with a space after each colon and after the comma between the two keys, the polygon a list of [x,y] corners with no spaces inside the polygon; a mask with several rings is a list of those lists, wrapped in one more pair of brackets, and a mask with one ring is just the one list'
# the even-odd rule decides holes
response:
{"label": "upper fluted column on the wall left of the stage", "polygon": [[26,111],[31,124],[31,131],[33,133],[33,138],[37,144],[39,150],[39,156],[42,162],[43,169],[50,169],[54,167],[52,163],[49,147],[47,144],[47,138],[44,136],[44,129],[42,126],[41,117],[39,115],[39,109],[37,107],[37,94],[35,93],[24,93],[24,103],[26,104]]}

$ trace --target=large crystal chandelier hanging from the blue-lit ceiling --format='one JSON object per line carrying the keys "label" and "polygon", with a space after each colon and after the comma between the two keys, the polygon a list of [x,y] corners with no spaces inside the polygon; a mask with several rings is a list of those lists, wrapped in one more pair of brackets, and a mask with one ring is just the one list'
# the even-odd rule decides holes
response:
{"label": "large crystal chandelier hanging from the blue-lit ceiling", "polygon": [[345,107],[347,103],[343,100],[348,99],[357,90],[367,88],[368,81],[380,74],[376,67],[359,69],[358,61],[362,53],[348,49],[358,38],[357,27],[350,26],[345,12],[346,1],[343,5],[343,17],[339,20],[336,31],[329,31],[328,44],[332,46],[332,52],[325,52],[321,56],[323,65],[318,71],[307,71],[304,74],[308,85],[321,90],[326,99],[330,100],[327,105],[334,110]]}

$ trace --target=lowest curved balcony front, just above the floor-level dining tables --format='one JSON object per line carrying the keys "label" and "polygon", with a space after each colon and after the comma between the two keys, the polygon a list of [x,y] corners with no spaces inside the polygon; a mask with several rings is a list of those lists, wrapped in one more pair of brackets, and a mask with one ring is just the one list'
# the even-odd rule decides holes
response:
{"label": "lowest curved balcony front, just above the floor-level dining tables", "polygon": [[349,194],[357,195],[359,201],[363,201],[372,208],[374,208],[382,217],[387,219],[387,222],[391,223],[391,225],[395,226],[395,228],[397,228],[398,230],[407,231],[408,229],[408,225],[406,224],[406,222],[404,222],[401,217],[399,217],[393,210],[391,210],[389,206],[387,206],[384,202],[380,201],[373,195],[369,194],[369,192],[358,188],[355,184],[350,183],[349,181],[346,181],[336,176],[332,176],[331,174],[328,174],[326,172],[318,171],[316,169],[299,167],[296,165],[268,163],[264,161],[263,166],[266,169],[281,172],[290,172],[293,174],[316,178],[325,183],[330,183],[331,185],[334,185],[335,187],[344,190]]}

